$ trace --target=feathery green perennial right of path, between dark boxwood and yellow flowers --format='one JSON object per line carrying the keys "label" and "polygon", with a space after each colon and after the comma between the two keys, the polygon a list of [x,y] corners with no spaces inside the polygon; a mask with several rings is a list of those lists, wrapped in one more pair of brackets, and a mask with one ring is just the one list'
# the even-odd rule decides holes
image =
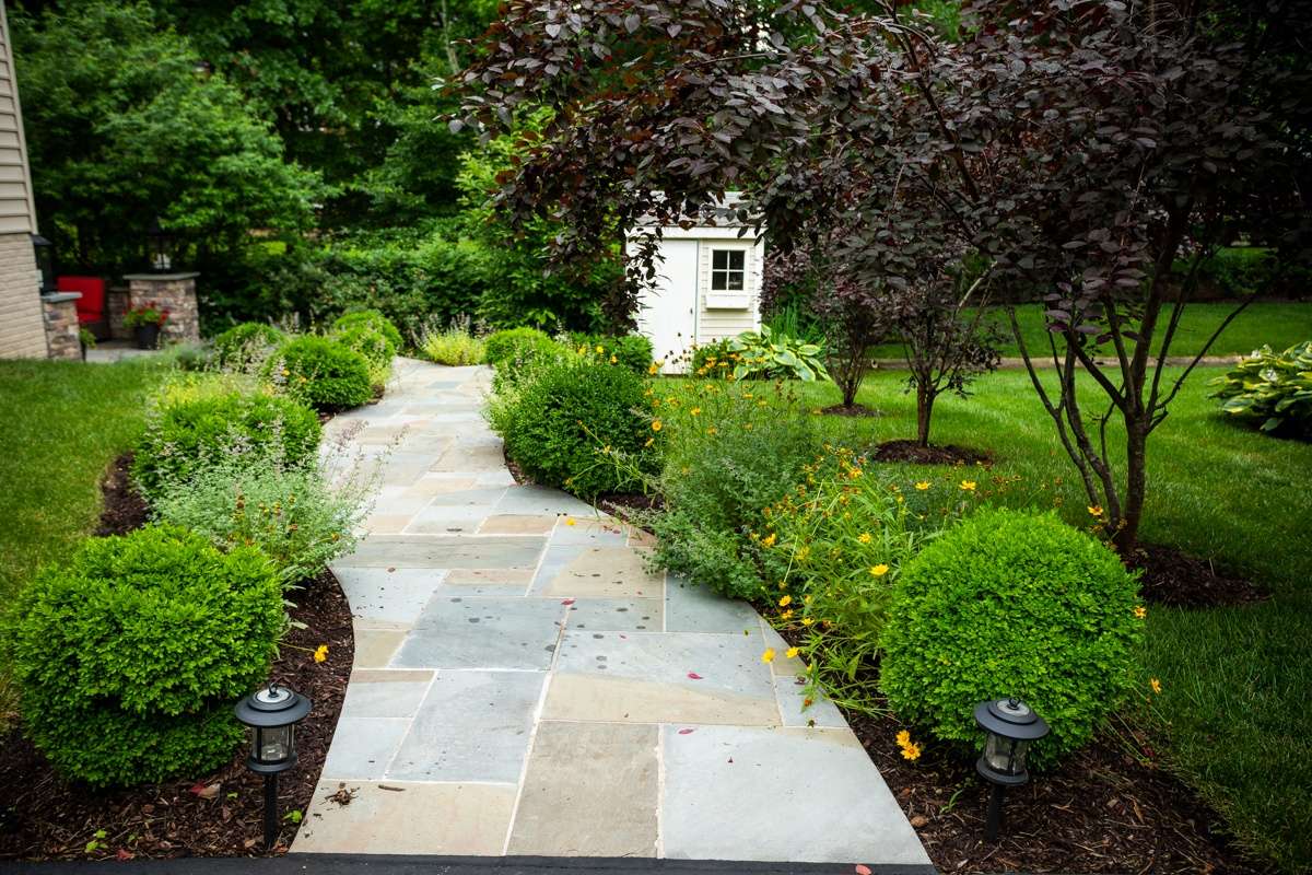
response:
{"label": "feathery green perennial right of path, between dark boxwood and yellow flowers", "polygon": [[758,548],[749,533],[765,508],[802,479],[815,457],[811,417],[783,383],[687,379],[653,400],[668,433],[649,521],[653,560],[735,598],[760,598]]}

